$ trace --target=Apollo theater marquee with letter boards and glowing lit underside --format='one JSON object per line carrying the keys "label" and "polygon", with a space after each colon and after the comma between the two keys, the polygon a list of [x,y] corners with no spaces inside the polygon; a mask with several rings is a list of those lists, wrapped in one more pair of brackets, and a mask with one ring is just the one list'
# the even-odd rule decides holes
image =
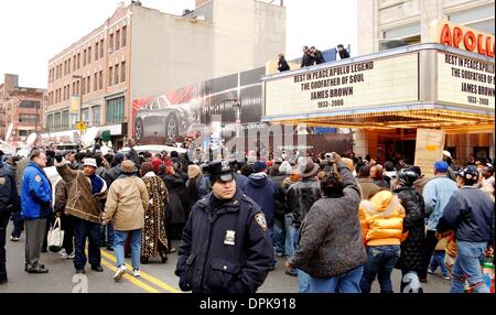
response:
{"label": "Apollo theater marquee with letter boards and glowing lit underside", "polygon": [[418,129],[494,159],[494,36],[439,21],[432,43],[263,77],[263,121],[348,130],[356,155],[413,161]]}

